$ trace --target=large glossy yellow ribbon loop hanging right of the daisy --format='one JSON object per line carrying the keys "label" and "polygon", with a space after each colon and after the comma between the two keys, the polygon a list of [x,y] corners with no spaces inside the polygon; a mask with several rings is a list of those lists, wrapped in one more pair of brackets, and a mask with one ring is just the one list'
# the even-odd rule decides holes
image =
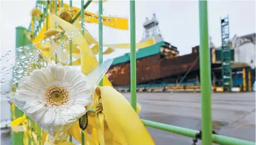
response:
{"label": "large glossy yellow ribbon loop hanging right of the daisy", "polygon": [[98,87],[96,94],[101,98],[103,114],[110,131],[121,144],[155,144],[139,116],[122,94],[108,86]]}

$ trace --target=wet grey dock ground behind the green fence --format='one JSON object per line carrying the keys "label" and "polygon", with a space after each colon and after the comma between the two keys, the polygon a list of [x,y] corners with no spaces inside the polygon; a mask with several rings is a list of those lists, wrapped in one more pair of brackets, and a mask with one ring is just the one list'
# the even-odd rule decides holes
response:
{"label": "wet grey dock ground behind the green fence", "polygon": [[[130,93],[122,94],[130,101]],[[137,102],[142,106],[141,119],[195,130],[201,129],[200,100],[200,93],[137,93]],[[6,118],[8,113],[2,113],[1,117]],[[212,93],[212,120],[214,131],[220,135],[255,141],[255,92]],[[159,145],[192,144],[192,138],[148,130]],[[10,136],[1,135],[2,143],[9,145]]]}

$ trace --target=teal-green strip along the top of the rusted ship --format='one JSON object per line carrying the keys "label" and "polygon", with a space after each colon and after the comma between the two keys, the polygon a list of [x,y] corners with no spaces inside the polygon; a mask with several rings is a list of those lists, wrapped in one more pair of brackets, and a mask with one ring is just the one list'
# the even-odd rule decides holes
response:
{"label": "teal-green strip along the top of the rusted ship", "polygon": [[[146,48],[139,49],[136,53],[136,59],[148,57],[158,54],[160,52],[160,46],[165,45],[165,42],[159,42],[155,45],[148,46]],[[112,65],[125,63],[130,61],[130,53],[124,54],[122,57],[114,58]]]}

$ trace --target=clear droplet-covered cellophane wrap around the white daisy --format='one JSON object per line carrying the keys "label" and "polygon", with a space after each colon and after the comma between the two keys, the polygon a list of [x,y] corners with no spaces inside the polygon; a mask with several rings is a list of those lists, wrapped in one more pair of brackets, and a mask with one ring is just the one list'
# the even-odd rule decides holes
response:
{"label": "clear droplet-covered cellophane wrap around the white daisy", "polygon": [[[76,32],[61,32],[1,57],[1,94],[48,132],[52,143],[66,138],[67,129],[93,106],[94,91],[113,62],[92,66],[87,74],[79,64],[70,66],[70,60],[80,63],[82,53],[69,57]],[[79,51],[79,45],[72,46]]]}

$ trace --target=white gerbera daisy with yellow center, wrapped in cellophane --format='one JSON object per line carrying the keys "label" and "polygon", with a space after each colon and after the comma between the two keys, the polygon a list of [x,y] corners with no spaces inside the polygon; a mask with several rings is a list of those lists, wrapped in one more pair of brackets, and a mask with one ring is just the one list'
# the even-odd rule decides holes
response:
{"label": "white gerbera daisy with yellow center, wrapped in cellophane", "polygon": [[87,76],[61,64],[34,70],[18,84],[15,99],[25,102],[20,109],[42,128],[53,131],[79,119],[92,101]]}

